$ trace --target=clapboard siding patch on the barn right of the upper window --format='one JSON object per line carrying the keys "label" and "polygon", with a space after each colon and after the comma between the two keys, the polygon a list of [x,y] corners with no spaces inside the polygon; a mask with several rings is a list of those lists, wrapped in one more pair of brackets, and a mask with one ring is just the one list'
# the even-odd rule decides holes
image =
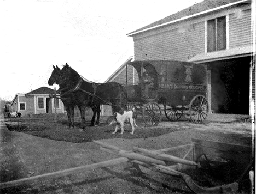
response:
{"label": "clapboard siding patch on the barn right of the upper window", "polygon": [[251,9],[229,15],[229,47],[252,45]]}

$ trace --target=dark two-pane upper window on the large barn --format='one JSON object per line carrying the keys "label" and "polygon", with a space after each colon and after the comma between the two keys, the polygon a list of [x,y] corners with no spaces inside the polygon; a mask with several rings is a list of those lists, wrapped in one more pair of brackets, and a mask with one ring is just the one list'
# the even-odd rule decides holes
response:
{"label": "dark two-pane upper window on the large barn", "polygon": [[226,49],[226,16],[207,21],[207,52]]}

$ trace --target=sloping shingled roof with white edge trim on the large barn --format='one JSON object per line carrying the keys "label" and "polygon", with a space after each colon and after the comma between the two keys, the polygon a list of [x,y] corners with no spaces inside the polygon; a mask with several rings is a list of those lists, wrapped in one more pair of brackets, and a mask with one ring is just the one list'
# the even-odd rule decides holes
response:
{"label": "sloping shingled roof with white edge trim on the large barn", "polygon": [[174,22],[176,20],[183,20],[188,19],[189,17],[192,17],[193,15],[200,15],[200,13],[203,13],[204,11],[211,10],[218,7],[225,7],[228,5],[235,5],[237,3],[248,3],[251,1],[241,1],[241,0],[205,0],[200,3],[196,3],[193,6],[183,9],[181,11],[178,11],[175,14],[172,14],[170,16],[165,17],[164,19],[158,20],[156,22],[151,23],[150,25],[147,25],[145,27],[139,28],[136,31],[133,31],[127,35],[132,36],[133,34],[137,34],[139,32],[144,32],[152,28],[156,28],[158,26],[163,26],[165,24]]}

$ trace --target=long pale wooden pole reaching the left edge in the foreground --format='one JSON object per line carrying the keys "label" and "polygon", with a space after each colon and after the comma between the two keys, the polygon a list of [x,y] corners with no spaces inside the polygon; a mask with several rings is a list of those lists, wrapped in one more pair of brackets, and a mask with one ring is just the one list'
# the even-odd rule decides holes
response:
{"label": "long pale wooden pole reaching the left edge in the foreground", "polygon": [[29,178],[24,178],[24,179],[19,179],[19,180],[8,181],[5,183],[0,183],[0,189],[5,189],[8,187],[19,186],[19,185],[24,185],[24,184],[30,184],[30,183],[33,183],[34,181],[42,181],[42,180],[46,180],[46,179],[65,177],[66,175],[81,173],[81,172],[85,172],[85,171],[90,171],[92,169],[97,169],[97,168],[102,168],[102,167],[107,167],[107,166],[112,166],[112,165],[117,165],[121,162],[127,162],[127,161],[129,161],[129,160],[126,157],[120,157],[118,159],[93,163],[91,165],[65,169],[63,171],[57,171],[57,172],[53,172],[53,173],[37,175],[34,177],[29,177]]}

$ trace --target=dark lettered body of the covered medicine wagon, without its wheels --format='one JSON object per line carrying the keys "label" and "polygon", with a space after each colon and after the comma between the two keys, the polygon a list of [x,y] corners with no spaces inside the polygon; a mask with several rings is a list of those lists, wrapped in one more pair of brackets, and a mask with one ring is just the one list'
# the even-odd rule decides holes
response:
{"label": "dark lettered body of the covered medicine wagon, without its wheels", "polygon": [[[156,102],[166,105],[188,105],[196,95],[207,94],[207,66],[170,60],[130,62],[143,78],[143,69],[154,79]],[[127,86],[128,100],[141,100],[141,87]]]}

